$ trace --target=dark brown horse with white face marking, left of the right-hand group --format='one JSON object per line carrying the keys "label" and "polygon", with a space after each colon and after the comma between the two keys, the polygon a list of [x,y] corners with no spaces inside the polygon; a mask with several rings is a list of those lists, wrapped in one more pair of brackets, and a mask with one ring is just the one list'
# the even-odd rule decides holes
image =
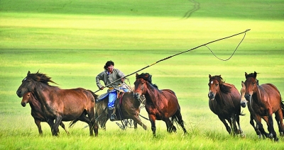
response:
{"label": "dark brown horse with white face marking, left of the right-hand group", "polygon": [[[241,96],[236,87],[229,83],[224,83],[221,75],[211,76],[209,74],[209,108],[218,115],[229,134],[240,134],[241,125],[239,115],[241,114]],[[229,122],[229,125],[226,123]],[[238,123],[239,129],[236,127]]]}

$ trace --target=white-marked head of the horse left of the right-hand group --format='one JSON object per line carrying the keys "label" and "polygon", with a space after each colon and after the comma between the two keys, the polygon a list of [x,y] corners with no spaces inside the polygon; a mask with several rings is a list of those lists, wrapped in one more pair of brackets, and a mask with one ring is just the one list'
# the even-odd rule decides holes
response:
{"label": "white-marked head of the horse left of the right-hand group", "polygon": [[222,81],[222,77],[221,75],[219,76],[211,76],[211,74],[209,74],[209,93],[208,93],[208,98],[210,100],[214,100],[215,96],[217,93],[219,93],[220,91],[220,86],[222,85],[223,81]]}

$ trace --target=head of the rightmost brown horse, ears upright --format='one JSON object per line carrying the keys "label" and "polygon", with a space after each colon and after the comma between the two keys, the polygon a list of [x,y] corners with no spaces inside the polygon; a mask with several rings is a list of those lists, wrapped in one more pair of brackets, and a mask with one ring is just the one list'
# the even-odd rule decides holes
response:
{"label": "head of the rightmost brown horse, ears upright", "polygon": [[258,80],[256,79],[256,75],[258,73],[256,73],[256,71],[254,71],[254,73],[251,74],[246,74],[245,72],[245,76],[246,76],[246,81],[244,81],[244,85],[246,86],[246,93],[244,95],[244,97],[246,98],[246,100],[250,101],[251,100],[251,96],[253,95],[253,93],[256,93],[257,89],[258,89]]}

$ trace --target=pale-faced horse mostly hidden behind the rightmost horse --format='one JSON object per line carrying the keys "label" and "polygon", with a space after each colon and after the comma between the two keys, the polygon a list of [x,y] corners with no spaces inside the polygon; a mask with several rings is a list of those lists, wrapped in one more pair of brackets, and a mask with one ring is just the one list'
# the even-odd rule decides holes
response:
{"label": "pale-faced horse mostly hidden behind the rightmost horse", "polygon": [[[257,85],[258,85],[258,81],[257,81]],[[268,133],[261,132],[258,129],[258,125],[257,124],[254,125],[254,120],[257,120],[256,119],[257,117],[262,117],[263,120],[266,121],[266,123],[268,124],[268,116],[259,116],[259,115],[256,115],[256,113],[253,112],[253,110],[251,109],[251,105],[250,105],[249,101],[246,100],[246,98],[244,98],[244,95],[246,93],[246,86],[244,85],[244,81],[241,81],[241,91],[240,91],[240,93],[241,93],[241,107],[245,108],[246,104],[248,105],[249,113],[251,114],[250,115],[250,124],[251,124],[251,126],[253,126],[253,129],[256,131],[256,134],[258,135],[259,138],[261,138],[261,135],[262,135],[263,138],[268,137]]]}

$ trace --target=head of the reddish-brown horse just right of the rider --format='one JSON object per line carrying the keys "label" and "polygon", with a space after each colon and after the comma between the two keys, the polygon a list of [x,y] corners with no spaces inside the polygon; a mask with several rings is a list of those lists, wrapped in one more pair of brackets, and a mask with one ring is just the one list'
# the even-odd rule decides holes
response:
{"label": "head of the reddish-brown horse just right of the rider", "polygon": [[152,76],[148,73],[146,74],[136,74],[136,81],[134,82],[134,93],[133,96],[136,99],[139,99],[141,95],[144,95],[147,90],[147,81],[152,82]]}

